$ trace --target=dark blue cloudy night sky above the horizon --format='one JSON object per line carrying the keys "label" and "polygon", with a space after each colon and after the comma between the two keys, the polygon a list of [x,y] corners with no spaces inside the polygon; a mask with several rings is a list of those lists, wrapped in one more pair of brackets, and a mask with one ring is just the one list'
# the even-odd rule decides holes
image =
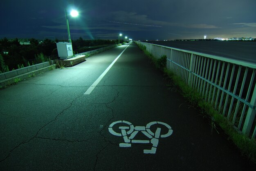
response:
{"label": "dark blue cloudy night sky above the horizon", "polygon": [[256,38],[256,0],[1,0],[0,38]]}

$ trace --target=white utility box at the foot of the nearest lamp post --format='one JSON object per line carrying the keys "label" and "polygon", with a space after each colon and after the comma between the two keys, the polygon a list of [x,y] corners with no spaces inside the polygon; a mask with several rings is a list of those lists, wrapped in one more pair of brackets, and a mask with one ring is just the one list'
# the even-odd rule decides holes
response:
{"label": "white utility box at the foot of the nearest lamp post", "polygon": [[57,50],[58,50],[58,57],[61,59],[69,59],[73,56],[73,49],[72,49],[72,43],[66,43],[66,42],[58,42],[57,44]]}

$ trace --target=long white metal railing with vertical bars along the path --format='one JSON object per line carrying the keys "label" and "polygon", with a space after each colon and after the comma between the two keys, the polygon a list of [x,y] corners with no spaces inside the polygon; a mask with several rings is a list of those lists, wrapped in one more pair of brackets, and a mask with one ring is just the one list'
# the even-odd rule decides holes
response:
{"label": "long white metal railing with vertical bars along the path", "polygon": [[166,67],[197,90],[234,127],[256,137],[256,64],[145,42],[156,58],[166,56]]}

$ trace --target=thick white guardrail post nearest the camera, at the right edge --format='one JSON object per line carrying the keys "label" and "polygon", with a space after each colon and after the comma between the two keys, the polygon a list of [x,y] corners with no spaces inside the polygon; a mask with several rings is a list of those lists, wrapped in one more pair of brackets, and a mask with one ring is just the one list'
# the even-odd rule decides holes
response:
{"label": "thick white guardrail post nearest the camera, at the right edge", "polygon": [[[250,104],[254,107],[256,106],[256,84],[254,87],[254,92],[252,94],[252,100]],[[245,124],[243,126],[243,133],[249,135],[252,129],[252,124],[255,118],[255,114],[256,114],[256,109],[252,109],[251,107],[249,107],[246,118],[245,118]]]}

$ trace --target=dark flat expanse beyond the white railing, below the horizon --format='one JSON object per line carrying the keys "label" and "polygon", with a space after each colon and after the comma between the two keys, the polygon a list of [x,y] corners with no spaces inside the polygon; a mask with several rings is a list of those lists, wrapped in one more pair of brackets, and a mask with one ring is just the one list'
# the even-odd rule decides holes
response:
{"label": "dark flat expanse beyond the white railing, below the horizon", "polygon": [[145,41],[178,49],[242,60],[256,64],[256,42],[232,41]]}

